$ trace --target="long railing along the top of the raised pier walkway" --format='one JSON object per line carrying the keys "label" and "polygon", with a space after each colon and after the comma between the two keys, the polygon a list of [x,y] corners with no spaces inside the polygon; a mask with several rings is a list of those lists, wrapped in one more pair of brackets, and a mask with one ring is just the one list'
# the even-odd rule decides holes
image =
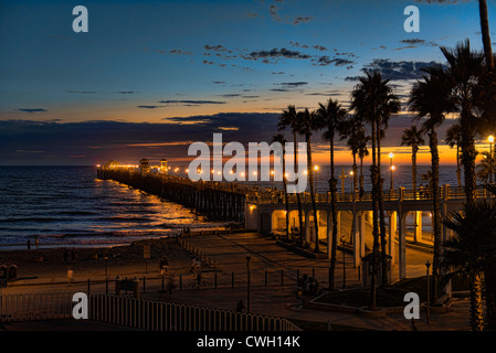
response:
{"label": "long railing along the top of the raised pier walkway", "polygon": [[[419,189],[415,192],[413,190],[407,190],[399,188],[398,190],[384,190],[383,201],[432,201],[433,191],[426,189]],[[361,195],[357,192],[336,193],[337,202],[371,202],[372,193],[363,192]],[[296,194],[288,194],[288,203],[296,203]],[[444,185],[439,189],[440,200],[463,200],[465,199],[464,188],[451,188]],[[304,204],[312,202],[310,193],[304,192],[299,194],[300,201]],[[485,188],[479,186],[476,190],[477,199],[494,197],[494,195]],[[246,195],[246,202],[256,204],[276,204],[285,203],[284,194],[282,192],[255,192]],[[316,203],[330,203],[330,192],[316,193]]]}

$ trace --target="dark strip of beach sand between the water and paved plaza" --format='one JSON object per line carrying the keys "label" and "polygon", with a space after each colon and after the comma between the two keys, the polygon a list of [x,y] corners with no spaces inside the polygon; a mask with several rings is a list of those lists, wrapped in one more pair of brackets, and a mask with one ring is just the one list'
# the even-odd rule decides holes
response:
{"label": "dark strip of beach sand between the water and paved plaza", "polygon": [[[150,258],[144,258],[149,246]],[[72,258],[72,250],[75,256]],[[66,254],[64,258],[64,253]],[[168,268],[176,274],[189,272],[193,255],[177,244],[176,238],[137,240],[130,245],[112,247],[57,247],[0,250],[0,265],[15,265],[17,279],[9,286],[36,282],[63,282],[67,270],[74,271],[74,281],[124,277],[158,277],[159,264],[167,258]],[[107,258],[107,259],[105,259]]]}

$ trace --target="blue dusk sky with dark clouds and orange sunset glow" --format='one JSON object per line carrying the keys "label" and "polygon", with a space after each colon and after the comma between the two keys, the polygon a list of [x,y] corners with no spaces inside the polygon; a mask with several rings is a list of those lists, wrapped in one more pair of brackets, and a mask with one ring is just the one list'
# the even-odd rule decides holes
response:
{"label": "blue dusk sky with dark clouds and orange sunset glow", "polygon": [[[87,9],[87,32],[73,30],[76,6]],[[408,6],[420,11],[420,32],[403,28]],[[496,1],[488,12],[495,29]],[[288,105],[316,109],[333,98],[348,107],[357,77],[370,69],[402,100],[383,152],[409,163],[410,148],[399,142],[412,124],[411,85],[421,67],[445,63],[440,46],[468,39],[482,51],[479,31],[474,0],[6,0],[0,164],[184,164],[188,146],[213,133],[270,142]],[[318,132],[314,141],[325,164],[328,146]],[[442,163],[454,156],[441,146]],[[419,161],[429,163],[428,147]],[[351,163],[342,143],[336,162]]]}

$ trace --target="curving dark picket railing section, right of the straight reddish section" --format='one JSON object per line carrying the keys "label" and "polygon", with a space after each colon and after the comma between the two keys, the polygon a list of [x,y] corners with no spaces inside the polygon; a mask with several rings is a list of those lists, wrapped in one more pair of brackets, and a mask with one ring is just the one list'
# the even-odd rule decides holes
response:
{"label": "curving dark picket railing section, right of the straight reddish section", "polygon": [[299,331],[291,321],[129,297],[89,297],[89,319],[149,331]]}

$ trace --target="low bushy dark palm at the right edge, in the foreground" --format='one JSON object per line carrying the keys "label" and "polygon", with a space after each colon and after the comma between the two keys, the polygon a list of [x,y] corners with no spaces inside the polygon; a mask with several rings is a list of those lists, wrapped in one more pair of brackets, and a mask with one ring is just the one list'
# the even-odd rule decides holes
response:
{"label": "low bushy dark palm at the right edge, in the foreground", "polygon": [[[454,235],[443,243],[441,268],[465,275],[471,281],[471,327],[484,330],[483,287],[486,291],[487,329],[496,329],[496,204],[494,200],[465,203],[460,212],[443,221]],[[484,275],[484,276],[483,276]],[[483,286],[482,278],[486,285]]]}

